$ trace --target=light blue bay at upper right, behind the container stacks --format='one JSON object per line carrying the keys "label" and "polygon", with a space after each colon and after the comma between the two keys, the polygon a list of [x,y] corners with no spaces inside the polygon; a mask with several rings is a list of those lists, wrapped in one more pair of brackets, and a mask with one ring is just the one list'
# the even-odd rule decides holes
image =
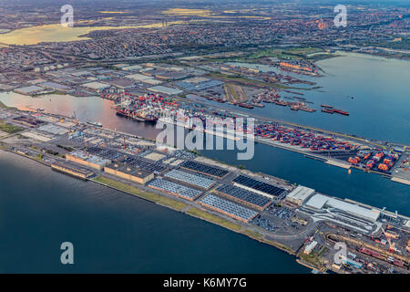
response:
{"label": "light blue bay at upper right, behind the container stacks", "polygon": [[[344,133],[352,133],[366,138],[384,141],[410,143],[410,62],[399,59],[367,56],[364,54],[342,53],[316,63],[323,68],[323,77],[303,76],[302,79],[317,82],[320,89],[298,90],[302,98],[312,101],[308,107],[314,113],[294,111],[274,104],[253,110],[240,109],[276,120],[286,120]],[[266,66],[259,69],[267,70]],[[281,72],[278,69],[276,72]],[[301,78],[293,73],[282,74]],[[310,88],[304,84],[293,84],[296,88]],[[295,89],[291,89],[296,91]],[[295,94],[280,92],[282,97]],[[352,99],[354,97],[354,99]],[[205,99],[206,100],[206,99]],[[290,101],[291,99],[284,99]],[[294,99],[297,100],[297,99]],[[227,109],[238,110],[229,104],[216,101],[206,102]],[[321,112],[321,104],[330,104],[336,109],[350,112],[348,117]],[[358,127],[357,125],[360,125]]]}

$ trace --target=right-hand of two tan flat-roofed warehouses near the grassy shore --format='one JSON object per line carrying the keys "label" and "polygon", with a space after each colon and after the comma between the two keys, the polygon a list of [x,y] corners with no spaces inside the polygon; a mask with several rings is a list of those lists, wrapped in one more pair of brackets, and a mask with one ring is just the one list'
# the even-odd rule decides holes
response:
{"label": "right-hand of two tan flat-roofed warehouses near the grassy shore", "polygon": [[121,179],[140,184],[148,183],[154,178],[154,172],[140,170],[122,163],[107,165],[104,167],[104,172],[118,176]]}

